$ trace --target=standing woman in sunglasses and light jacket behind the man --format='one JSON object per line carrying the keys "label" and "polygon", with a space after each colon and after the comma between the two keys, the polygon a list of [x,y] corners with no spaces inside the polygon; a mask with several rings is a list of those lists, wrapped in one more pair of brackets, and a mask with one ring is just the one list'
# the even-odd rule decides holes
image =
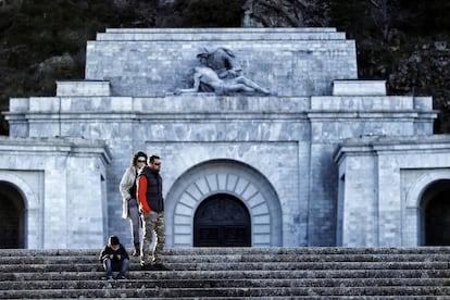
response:
{"label": "standing woman in sunglasses and light jacket behind the man", "polygon": [[139,241],[139,207],[136,200],[136,178],[140,168],[147,164],[147,154],[142,151],[138,151],[133,155],[130,165],[125,170],[122,176],[118,189],[122,193],[122,217],[129,218],[133,233],[133,243],[135,250],[134,257],[140,255],[140,241]]}

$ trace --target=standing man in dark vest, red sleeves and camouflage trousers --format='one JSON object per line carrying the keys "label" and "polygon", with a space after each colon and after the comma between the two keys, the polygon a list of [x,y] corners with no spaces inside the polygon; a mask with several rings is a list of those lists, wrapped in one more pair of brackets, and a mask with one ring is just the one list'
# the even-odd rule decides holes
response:
{"label": "standing man in dark vest, red sleeves and camouflage trousers", "polygon": [[[142,249],[140,251],[140,265],[142,270],[151,270],[152,264],[157,270],[167,270],[161,262],[161,252],[165,242],[165,229],[164,199],[162,196],[160,170],[160,157],[151,155],[148,159],[148,165],[140,171],[137,180],[137,198],[143,223]],[[153,232],[157,235],[157,242],[152,255],[150,255]]]}

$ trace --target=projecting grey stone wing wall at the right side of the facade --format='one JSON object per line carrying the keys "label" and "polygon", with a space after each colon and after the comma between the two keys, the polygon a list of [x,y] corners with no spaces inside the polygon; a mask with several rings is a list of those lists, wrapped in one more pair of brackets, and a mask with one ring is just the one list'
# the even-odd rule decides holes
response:
{"label": "projecting grey stone wing wall at the right side of the facade", "polygon": [[[424,245],[427,187],[450,179],[450,136],[365,137],[342,142],[338,246]],[[443,229],[443,228],[442,228]]]}

